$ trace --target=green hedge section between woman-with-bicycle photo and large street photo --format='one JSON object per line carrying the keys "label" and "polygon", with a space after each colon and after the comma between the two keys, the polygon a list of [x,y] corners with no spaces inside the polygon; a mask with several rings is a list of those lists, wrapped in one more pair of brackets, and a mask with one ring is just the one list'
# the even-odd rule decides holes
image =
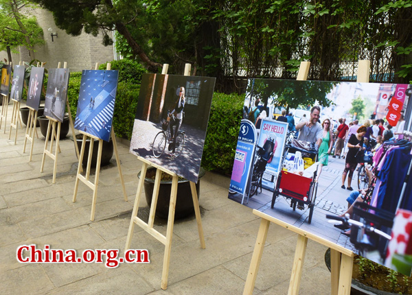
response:
{"label": "green hedge section between woman-with-bicycle photo and large street photo", "polygon": [[242,119],[244,95],[214,93],[202,167],[231,175]]}

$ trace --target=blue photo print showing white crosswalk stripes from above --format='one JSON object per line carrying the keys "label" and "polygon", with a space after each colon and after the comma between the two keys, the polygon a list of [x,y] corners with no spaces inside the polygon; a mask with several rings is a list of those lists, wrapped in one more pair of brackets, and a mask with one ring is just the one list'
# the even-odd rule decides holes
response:
{"label": "blue photo print showing white crosswalk stripes from above", "polygon": [[109,141],[118,77],[118,71],[82,71],[74,128]]}

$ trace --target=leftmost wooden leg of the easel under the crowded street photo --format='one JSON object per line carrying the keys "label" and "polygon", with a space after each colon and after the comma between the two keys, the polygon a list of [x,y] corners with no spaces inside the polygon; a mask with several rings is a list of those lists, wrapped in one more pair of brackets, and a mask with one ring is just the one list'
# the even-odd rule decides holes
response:
{"label": "leftmost wooden leg of the easel under the crowded street photo", "polygon": [[249,272],[247,273],[246,283],[244,284],[243,295],[253,294],[256,276],[258,276],[260,260],[262,259],[264,243],[268,235],[268,229],[270,224],[271,222],[265,220],[264,218],[260,220],[258,237],[256,238],[255,249],[253,250],[251,265],[249,266]]}

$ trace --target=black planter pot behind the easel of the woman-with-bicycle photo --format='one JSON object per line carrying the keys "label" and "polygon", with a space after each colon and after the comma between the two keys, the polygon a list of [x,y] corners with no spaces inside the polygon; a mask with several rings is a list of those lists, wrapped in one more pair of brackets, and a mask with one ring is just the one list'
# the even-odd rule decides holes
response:
{"label": "black planter pot behind the easel of the woman-with-bicycle photo", "polygon": [[[140,178],[140,173],[137,177]],[[144,178],[144,191],[146,195],[146,202],[150,206],[152,204],[153,189],[155,187],[155,179],[149,178],[150,174],[156,174],[154,167],[148,168],[146,178]],[[205,175],[205,169],[201,168],[199,172],[199,179],[196,184],[196,191],[199,198],[199,189],[201,185],[201,177]],[[161,180],[159,188],[159,196],[157,198],[156,216],[168,219],[170,191],[172,191],[172,180]],[[194,214],[192,190],[190,189],[190,182],[186,179],[179,179],[177,185],[177,198],[174,213],[174,219],[178,220],[189,215]]]}

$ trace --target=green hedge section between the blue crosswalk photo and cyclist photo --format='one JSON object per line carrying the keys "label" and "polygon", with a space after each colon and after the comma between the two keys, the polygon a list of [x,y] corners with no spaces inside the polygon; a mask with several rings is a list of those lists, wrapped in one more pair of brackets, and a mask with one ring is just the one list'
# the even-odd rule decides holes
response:
{"label": "green hedge section between the blue crosswalk photo and cyclist photo", "polygon": [[113,115],[113,128],[118,137],[131,139],[137,101],[139,99],[139,84],[122,81],[117,84],[115,113]]}

